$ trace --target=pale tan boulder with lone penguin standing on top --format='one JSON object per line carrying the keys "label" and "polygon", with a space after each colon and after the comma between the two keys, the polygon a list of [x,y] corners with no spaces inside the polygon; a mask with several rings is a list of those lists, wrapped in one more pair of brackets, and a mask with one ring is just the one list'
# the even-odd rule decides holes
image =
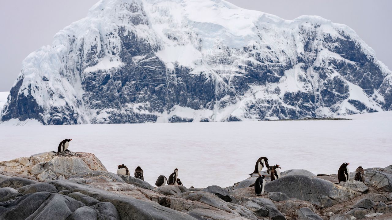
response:
{"label": "pale tan boulder with lone penguin standing on top", "polygon": [[72,175],[89,171],[107,171],[102,162],[92,153],[68,151],[45,152],[31,155],[31,157],[0,162],[1,170],[30,175],[45,181],[66,179]]}

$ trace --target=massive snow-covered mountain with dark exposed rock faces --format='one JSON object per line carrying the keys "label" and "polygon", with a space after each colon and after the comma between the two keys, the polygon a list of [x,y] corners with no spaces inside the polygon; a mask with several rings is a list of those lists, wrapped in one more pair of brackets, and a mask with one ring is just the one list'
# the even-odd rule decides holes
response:
{"label": "massive snow-covered mountain with dark exposed rock faces", "polygon": [[31,53],[1,121],[246,121],[392,110],[392,73],[346,25],[222,0],[101,0]]}

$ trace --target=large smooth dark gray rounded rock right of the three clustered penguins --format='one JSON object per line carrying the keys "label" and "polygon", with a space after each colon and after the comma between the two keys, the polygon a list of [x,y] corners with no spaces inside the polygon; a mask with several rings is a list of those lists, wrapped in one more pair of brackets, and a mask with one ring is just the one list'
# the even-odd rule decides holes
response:
{"label": "large smooth dark gray rounded rock right of the three clustered penguins", "polygon": [[319,207],[328,207],[337,202],[345,202],[358,195],[358,192],[337,186],[332,182],[304,175],[290,175],[265,184],[269,192],[285,193],[289,197],[309,201]]}

